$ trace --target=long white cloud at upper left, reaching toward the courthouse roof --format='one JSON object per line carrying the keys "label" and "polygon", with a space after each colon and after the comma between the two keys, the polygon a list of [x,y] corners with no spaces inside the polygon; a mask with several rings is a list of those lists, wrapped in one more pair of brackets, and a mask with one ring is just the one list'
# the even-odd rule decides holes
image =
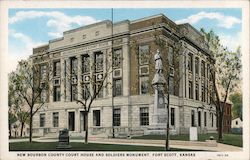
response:
{"label": "long white cloud at upper left, reaching toward the courthouse roof", "polygon": [[42,17],[48,18],[46,25],[52,29],[48,35],[53,38],[62,36],[64,31],[70,30],[74,25],[83,26],[100,21],[90,16],[68,16],[59,11],[19,11],[9,18],[9,24]]}

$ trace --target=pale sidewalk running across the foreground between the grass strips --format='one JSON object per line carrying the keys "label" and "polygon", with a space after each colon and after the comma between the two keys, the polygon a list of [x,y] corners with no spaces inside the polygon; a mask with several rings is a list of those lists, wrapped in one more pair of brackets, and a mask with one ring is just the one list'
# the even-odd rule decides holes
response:
{"label": "pale sidewalk running across the foreground between the grass strips", "polygon": [[[10,139],[9,142],[25,142],[29,139]],[[34,142],[58,142],[58,139],[46,139],[46,138],[33,138]],[[77,140],[72,139],[70,142],[84,142],[84,139]],[[108,138],[89,138],[89,143],[103,143],[103,144],[119,144],[119,145],[139,145],[139,146],[156,146],[164,147],[164,140],[144,140],[144,139],[108,139]],[[226,145],[218,143],[216,147],[208,147],[203,144],[204,142],[190,142],[190,141],[176,141],[170,140],[171,148],[179,149],[191,149],[191,150],[204,150],[204,151],[242,151],[241,147],[236,147],[232,145]]]}

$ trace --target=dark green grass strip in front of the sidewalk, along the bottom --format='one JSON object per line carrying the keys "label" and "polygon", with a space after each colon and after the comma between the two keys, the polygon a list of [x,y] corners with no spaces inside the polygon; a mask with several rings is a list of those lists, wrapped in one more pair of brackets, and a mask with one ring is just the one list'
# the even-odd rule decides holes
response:
{"label": "dark green grass strip in front of the sidewalk, along the bottom", "polygon": [[[58,142],[15,142],[9,143],[10,151],[164,151],[164,147],[114,145],[98,143],[70,143],[71,149],[56,149]],[[171,151],[193,151],[171,148]]]}

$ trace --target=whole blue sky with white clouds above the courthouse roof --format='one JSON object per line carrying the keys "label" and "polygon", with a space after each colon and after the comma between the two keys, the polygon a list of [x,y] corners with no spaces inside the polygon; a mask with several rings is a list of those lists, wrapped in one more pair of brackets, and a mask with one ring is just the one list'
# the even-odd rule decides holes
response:
{"label": "whole blue sky with white clouds above the courthouse roof", "polygon": [[[241,45],[242,11],[240,8],[148,8],[113,10],[114,22],[136,20],[147,16],[164,14],[177,24],[190,23],[197,30],[213,30],[222,45],[231,51]],[[102,20],[111,20],[111,9],[9,9],[8,41],[11,65],[28,58],[32,48],[47,44],[49,40],[62,37],[64,31]]]}

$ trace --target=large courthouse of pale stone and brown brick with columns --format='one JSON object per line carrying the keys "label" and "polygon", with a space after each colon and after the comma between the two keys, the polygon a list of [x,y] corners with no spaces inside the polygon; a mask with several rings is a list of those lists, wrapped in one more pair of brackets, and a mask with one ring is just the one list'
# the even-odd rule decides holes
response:
{"label": "large courthouse of pale stone and brown brick with columns", "polygon": [[170,66],[170,133],[185,134],[190,127],[197,127],[199,133],[216,132],[209,74],[214,59],[208,45],[190,24],[177,25],[159,14],[114,24],[101,21],[65,31],[63,37],[34,48],[30,59],[40,65],[41,79],[47,72],[53,72],[51,92],[41,94],[45,107],[34,116],[34,135],[58,133],[63,128],[68,128],[71,135],[84,133],[83,107],[76,103],[86,96],[81,83],[91,85],[93,74],[97,81],[102,80],[112,48],[116,55],[114,71],[107,79],[112,79],[113,89],[103,87],[93,102],[88,117],[89,133],[110,136],[114,128],[116,136],[147,134],[154,114],[151,82],[159,39],[164,42],[162,57],[169,58]]}

